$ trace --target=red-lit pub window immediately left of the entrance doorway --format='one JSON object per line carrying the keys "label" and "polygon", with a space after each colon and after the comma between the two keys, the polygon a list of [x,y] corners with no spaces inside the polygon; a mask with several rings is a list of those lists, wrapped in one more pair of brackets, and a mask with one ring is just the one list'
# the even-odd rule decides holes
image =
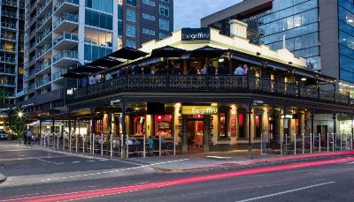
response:
{"label": "red-lit pub window immediately left of the entrance doorway", "polygon": [[162,138],[171,138],[172,115],[155,116],[155,136]]}

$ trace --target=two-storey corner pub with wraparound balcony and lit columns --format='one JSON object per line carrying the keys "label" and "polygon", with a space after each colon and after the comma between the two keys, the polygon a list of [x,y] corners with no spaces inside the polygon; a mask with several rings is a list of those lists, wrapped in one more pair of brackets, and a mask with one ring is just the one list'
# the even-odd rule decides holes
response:
{"label": "two-storey corner pub with wraparound balcony and lit columns", "polygon": [[[162,149],[177,153],[259,148],[261,142],[274,152],[294,148],[294,142],[306,152],[342,148],[344,142],[351,148],[352,136],[338,135],[337,117],[352,120],[354,105],[348,94],[335,91],[335,79],[308,70],[288,49],[251,44],[245,24],[230,24],[233,37],[212,28],[183,28],[142,49],[120,49],[68,71],[64,76],[77,81],[67,89],[69,113],[40,116],[41,123],[53,126],[65,120],[65,129],[52,127],[48,134],[41,129],[41,144],[48,146],[58,132],[58,141],[67,144],[63,148],[85,150],[87,144],[94,152],[95,141],[113,138],[132,155],[147,150],[149,137],[154,149],[169,143]],[[248,72],[235,75],[243,64]],[[81,82],[92,75],[104,81]],[[315,125],[316,116],[324,115],[330,115],[326,125]]]}

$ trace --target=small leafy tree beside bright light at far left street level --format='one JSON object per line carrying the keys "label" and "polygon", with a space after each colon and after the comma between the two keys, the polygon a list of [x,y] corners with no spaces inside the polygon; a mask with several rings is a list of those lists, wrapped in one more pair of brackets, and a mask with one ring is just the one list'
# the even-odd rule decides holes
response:
{"label": "small leafy tree beside bright light at far left street level", "polygon": [[21,108],[10,109],[5,118],[5,126],[9,128],[14,138],[21,138],[21,135],[26,131],[26,117],[22,114]]}

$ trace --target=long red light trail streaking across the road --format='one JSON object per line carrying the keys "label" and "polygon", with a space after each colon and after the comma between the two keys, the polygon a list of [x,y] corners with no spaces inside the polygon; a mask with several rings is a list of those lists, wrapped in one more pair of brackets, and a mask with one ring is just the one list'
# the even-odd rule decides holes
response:
{"label": "long red light trail streaking across the road", "polygon": [[161,189],[161,188],[172,187],[172,186],[182,185],[182,184],[202,183],[202,182],[221,180],[221,179],[237,177],[237,176],[250,176],[250,175],[271,173],[271,172],[290,170],[296,168],[312,168],[312,167],[319,167],[319,166],[331,165],[336,163],[344,163],[350,161],[354,161],[354,157],[347,157],[347,158],[333,159],[333,160],[326,160],[326,161],[296,162],[296,163],[290,163],[286,165],[264,167],[264,168],[248,168],[248,169],[242,169],[236,171],[219,172],[219,173],[209,174],[205,176],[189,176],[189,177],[182,177],[182,178],[174,178],[171,180],[158,181],[155,183],[144,183],[144,184],[137,183],[130,186],[119,186],[119,187],[113,187],[108,189],[66,192],[66,193],[58,193],[58,194],[52,194],[47,196],[36,196],[36,197],[28,197],[28,198],[12,198],[12,199],[0,200],[0,202],[4,202],[4,201],[51,202],[51,201],[76,200],[76,199],[84,199],[84,198],[98,198],[98,197],[128,193],[133,191]]}

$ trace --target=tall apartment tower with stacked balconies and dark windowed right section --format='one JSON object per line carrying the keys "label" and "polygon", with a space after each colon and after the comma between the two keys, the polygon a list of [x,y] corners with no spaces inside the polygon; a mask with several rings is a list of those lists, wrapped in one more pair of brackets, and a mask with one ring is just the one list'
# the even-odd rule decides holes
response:
{"label": "tall apartment tower with stacked balconies and dark windowed right section", "polygon": [[112,51],[164,38],[173,30],[173,0],[27,0],[25,85],[27,111],[65,106],[61,77]]}

